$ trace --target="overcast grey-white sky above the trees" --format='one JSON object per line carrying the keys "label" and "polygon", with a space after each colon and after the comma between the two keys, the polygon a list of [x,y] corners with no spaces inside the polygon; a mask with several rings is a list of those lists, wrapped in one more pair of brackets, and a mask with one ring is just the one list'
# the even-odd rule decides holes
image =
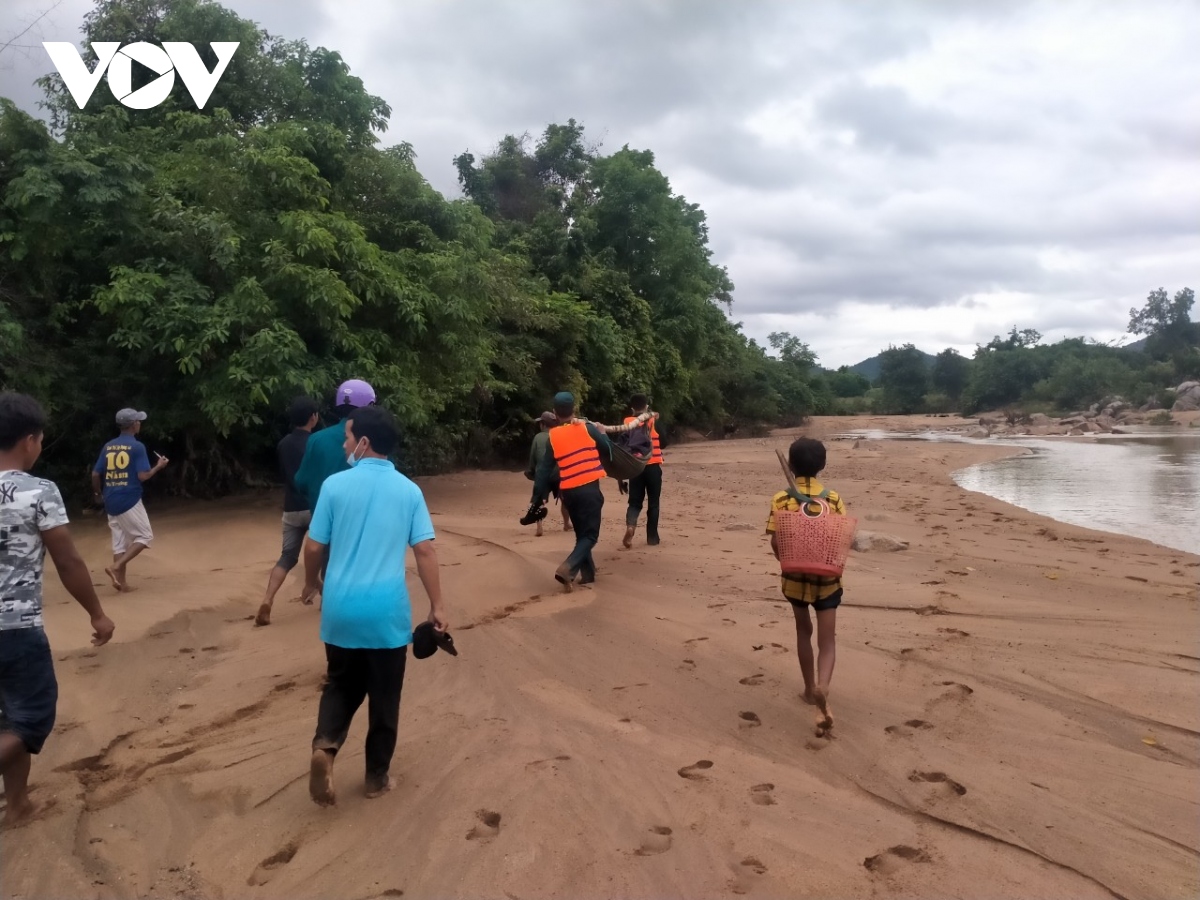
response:
{"label": "overcast grey-white sky above the trees", "polygon": [[[2,0],[0,44],[52,5]],[[1116,340],[1150,290],[1200,289],[1195,0],[224,5],[341,52],[450,197],[458,152],[572,116],[653,150],[734,319],[827,366],[1013,325]],[[36,112],[40,42],[78,42],[90,6],[0,52],[0,94]]]}

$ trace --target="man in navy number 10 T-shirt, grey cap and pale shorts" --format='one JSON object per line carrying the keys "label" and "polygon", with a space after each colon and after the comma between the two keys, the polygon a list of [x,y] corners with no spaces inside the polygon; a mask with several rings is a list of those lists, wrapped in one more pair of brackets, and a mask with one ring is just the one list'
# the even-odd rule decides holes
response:
{"label": "man in navy number 10 T-shirt, grey cap and pale shorts", "polygon": [[125,408],[116,414],[121,433],[100,449],[91,469],[91,488],[97,502],[104,504],[108,527],[113,533],[113,565],[104,574],[116,590],[133,590],[125,578],[125,569],[143,550],[154,542],[150,517],[142,504],[142,484],[162,472],[169,462],[162,454],[154,466],[145,445],[138,440],[146,414]]}

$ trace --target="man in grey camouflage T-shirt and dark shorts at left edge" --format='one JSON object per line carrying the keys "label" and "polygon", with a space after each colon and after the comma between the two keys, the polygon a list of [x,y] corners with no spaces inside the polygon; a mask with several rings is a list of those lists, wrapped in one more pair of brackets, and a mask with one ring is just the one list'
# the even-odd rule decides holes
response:
{"label": "man in grey camouflage T-shirt and dark shorts at left edge", "polygon": [[67,593],[91,618],[91,642],[108,643],[104,614],[67,530],[53,481],[29,474],[42,454],[46,413],[24,394],[0,394],[0,775],[7,802],[2,827],[28,822],[29,770],[54,728],[59,684],[42,623],[46,553]]}

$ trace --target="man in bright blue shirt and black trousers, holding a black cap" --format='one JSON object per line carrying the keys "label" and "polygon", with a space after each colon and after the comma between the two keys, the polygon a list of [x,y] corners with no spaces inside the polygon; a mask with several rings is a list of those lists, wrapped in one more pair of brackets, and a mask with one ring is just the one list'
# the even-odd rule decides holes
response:
{"label": "man in bright blue shirt and black trousers, holding a black cap", "polygon": [[342,454],[350,468],[325,481],[304,551],[306,598],[322,589],[320,570],[328,564],[320,608],[326,676],[308,773],[308,793],[322,806],[336,802],[334,760],[364,697],[366,796],[379,797],[392,786],[389,770],[413,640],[404,584],[409,547],[430,598],[427,620],[438,632],[449,628],[425,497],[388,460],[398,439],[395,420],[378,407],[359,408],[343,433]]}

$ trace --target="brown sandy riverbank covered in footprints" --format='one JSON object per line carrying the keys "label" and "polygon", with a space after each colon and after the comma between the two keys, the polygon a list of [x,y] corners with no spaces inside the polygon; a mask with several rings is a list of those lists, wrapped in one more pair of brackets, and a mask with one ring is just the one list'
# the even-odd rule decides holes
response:
{"label": "brown sandy riverbank covered in footprints", "polygon": [[[569,596],[570,539],[517,524],[520,474],[422,480],[461,656],[409,661],[378,800],[360,714],[334,810],[305,779],[317,611],[289,582],[274,625],[246,620],[274,500],[156,515],[98,652],[48,575],[54,805],[0,838],[4,895],[1195,896],[1200,558],[950,480],[1010,448],[832,442],[828,481],[910,548],[851,560],[818,740],[761,535],[787,440],[673,449],[653,550],[618,552],[608,482],[600,578]],[[107,528],[76,534],[102,584]]]}

